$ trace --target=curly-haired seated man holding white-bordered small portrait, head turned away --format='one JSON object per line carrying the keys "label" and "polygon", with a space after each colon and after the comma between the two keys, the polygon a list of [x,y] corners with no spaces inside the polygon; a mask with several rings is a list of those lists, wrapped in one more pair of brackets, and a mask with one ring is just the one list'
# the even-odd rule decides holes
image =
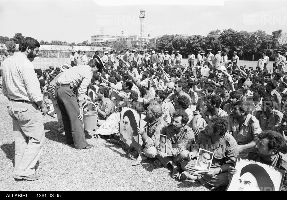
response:
{"label": "curly-haired seated man holding white-bordered small portrait, head turned away", "polygon": [[[207,126],[199,133],[195,148],[187,154],[187,160],[181,162],[184,172],[178,177],[179,180],[197,180],[204,186],[211,186],[211,189],[228,185],[228,167],[234,165],[238,147],[233,136],[226,133],[227,127],[227,117],[211,117]],[[195,168],[199,148],[214,153],[208,173],[197,173],[201,170]]]}

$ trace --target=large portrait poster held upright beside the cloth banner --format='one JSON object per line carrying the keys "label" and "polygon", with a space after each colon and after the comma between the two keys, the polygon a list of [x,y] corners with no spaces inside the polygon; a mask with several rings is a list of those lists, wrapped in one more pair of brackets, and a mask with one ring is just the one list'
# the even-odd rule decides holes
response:
{"label": "large portrait poster held upright beside the cloth banner", "polygon": [[[141,137],[137,127],[140,127],[141,113],[123,107],[120,113],[120,139],[138,152],[142,151]],[[140,141],[140,142],[139,142]]]}

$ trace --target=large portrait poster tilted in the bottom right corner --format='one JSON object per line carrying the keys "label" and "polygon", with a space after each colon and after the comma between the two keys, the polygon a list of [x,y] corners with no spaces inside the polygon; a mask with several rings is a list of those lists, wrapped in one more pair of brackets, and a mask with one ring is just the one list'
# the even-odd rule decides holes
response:
{"label": "large portrait poster tilted in the bottom right corner", "polygon": [[285,170],[237,156],[227,191],[279,191]]}

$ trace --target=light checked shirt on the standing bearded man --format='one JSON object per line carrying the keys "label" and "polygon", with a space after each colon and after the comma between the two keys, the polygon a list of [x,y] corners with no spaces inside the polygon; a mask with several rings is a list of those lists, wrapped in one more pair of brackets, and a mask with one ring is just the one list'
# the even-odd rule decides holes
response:
{"label": "light checked shirt on the standing bearded man", "polygon": [[33,64],[27,56],[15,52],[1,65],[3,77],[2,92],[14,100],[43,101],[39,81],[34,71]]}

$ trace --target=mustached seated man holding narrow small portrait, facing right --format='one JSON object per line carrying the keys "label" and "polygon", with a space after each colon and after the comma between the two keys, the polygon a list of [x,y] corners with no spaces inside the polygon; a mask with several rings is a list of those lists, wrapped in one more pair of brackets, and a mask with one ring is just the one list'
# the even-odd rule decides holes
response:
{"label": "mustached seated man holding narrow small portrait, facing right", "polygon": [[179,176],[178,169],[181,161],[187,158],[190,145],[194,144],[194,133],[187,125],[188,115],[182,110],[175,110],[173,113],[173,122],[167,127],[167,154],[160,151],[157,147],[157,160],[154,164],[156,166],[171,164],[173,167],[172,178]]}

